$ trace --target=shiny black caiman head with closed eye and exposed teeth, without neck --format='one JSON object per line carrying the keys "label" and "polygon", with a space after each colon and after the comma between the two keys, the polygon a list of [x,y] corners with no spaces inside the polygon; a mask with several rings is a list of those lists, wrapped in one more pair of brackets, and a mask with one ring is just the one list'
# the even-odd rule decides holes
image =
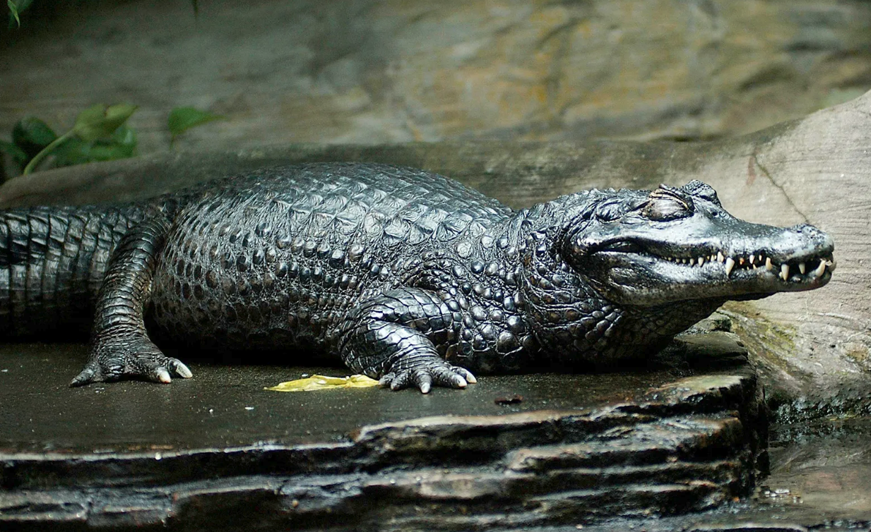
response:
{"label": "shiny black caiman head with closed eye and exposed teeth, without neck", "polygon": [[832,276],[826,233],[739,220],[705,183],[627,199],[570,223],[564,236],[564,258],[611,301],[752,299],[820,288]]}

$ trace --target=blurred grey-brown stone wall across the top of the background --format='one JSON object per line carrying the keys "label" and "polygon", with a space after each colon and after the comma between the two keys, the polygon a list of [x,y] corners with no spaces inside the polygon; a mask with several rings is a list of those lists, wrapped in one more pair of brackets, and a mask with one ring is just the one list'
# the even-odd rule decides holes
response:
{"label": "blurred grey-brown stone wall across the top of the background", "polygon": [[871,88],[861,0],[91,1],[0,37],[0,138],[128,101],[141,153],[169,146],[179,105],[228,118],[177,143],[192,150],[694,139]]}

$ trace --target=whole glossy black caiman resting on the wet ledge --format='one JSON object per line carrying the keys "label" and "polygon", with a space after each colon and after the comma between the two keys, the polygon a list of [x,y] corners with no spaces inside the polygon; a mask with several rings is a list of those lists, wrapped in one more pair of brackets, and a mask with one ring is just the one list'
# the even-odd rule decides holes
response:
{"label": "whole glossy black caiman resting on the wet ledge", "polygon": [[73,386],[192,376],[153,337],[288,365],[332,356],[426,393],[647,356],[727,300],[825,285],[833,249],[811,225],[731,216],[699,181],[516,211],[422,170],[302,164],[0,213],[0,335],[90,329]]}

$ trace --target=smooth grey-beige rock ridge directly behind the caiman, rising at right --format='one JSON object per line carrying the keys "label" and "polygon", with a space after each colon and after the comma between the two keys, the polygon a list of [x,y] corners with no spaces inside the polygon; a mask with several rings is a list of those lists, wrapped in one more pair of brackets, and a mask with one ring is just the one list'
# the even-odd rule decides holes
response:
{"label": "smooth grey-beige rock ridge directly behind the caiman, rising at right", "polygon": [[871,93],[710,143],[303,144],[155,154],[17,178],[0,187],[0,207],[127,201],[267,165],[338,160],[433,170],[514,207],[593,187],[652,189],[701,179],[735,216],[813,223],[834,236],[832,282],[812,292],[733,303],[726,311],[759,356],[769,399],[782,416],[871,408]]}

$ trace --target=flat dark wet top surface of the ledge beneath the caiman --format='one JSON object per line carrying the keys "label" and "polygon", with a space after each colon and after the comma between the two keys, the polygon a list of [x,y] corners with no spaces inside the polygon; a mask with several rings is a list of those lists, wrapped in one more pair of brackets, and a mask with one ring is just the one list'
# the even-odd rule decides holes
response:
{"label": "flat dark wet top surface of the ledge beneath the caiman", "polygon": [[[198,449],[339,440],[363,424],[436,415],[498,415],[586,409],[625,401],[672,381],[666,371],[601,375],[484,376],[468,389],[390,392],[267,391],[303,374],[341,368],[191,363],[192,379],[171,384],[111,382],[71,389],[82,344],[0,345],[0,451]],[[496,404],[519,395],[523,402]]]}

